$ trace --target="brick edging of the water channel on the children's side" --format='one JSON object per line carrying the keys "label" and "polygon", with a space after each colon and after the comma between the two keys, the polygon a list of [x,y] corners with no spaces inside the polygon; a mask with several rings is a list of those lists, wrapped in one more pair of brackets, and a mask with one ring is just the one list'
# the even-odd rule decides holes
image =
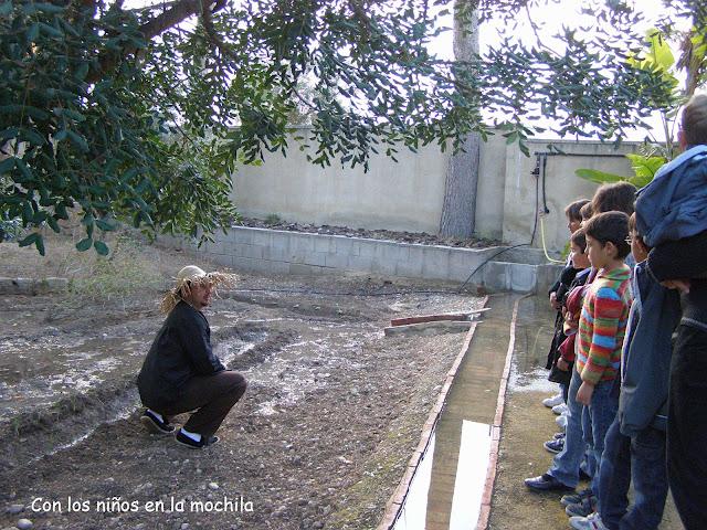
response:
{"label": "brick edging of the water channel on the children's side", "polygon": [[488,519],[490,517],[490,501],[494,494],[494,484],[496,483],[496,467],[498,464],[498,449],[500,446],[500,427],[504,418],[504,410],[506,406],[506,390],[508,389],[508,379],[510,377],[510,363],[513,361],[513,352],[516,347],[516,322],[518,320],[518,307],[520,300],[531,295],[525,295],[518,298],[513,306],[513,316],[510,317],[510,332],[508,339],[508,351],[506,352],[506,363],[504,372],[500,377],[500,386],[498,388],[498,400],[496,401],[496,415],[492,428],[490,452],[488,456],[488,468],[486,471],[486,483],[484,484],[484,494],[482,495],[482,508],[476,522],[476,530],[486,530],[488,528]]}

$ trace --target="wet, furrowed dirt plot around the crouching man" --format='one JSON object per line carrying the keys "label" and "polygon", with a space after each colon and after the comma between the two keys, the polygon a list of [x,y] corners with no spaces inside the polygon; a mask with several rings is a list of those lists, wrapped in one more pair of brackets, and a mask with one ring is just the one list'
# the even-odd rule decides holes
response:
{"label": "wet, furrowed dirt plot around the crouching man", "polygon": [[374,528],[464,339],[382,329],[481,304],[419,293],[444,285],[239,272],[205,312],[250,386],[198,452],[141,428],[134,384],[161,289],[193,258],[131,237],[112,259],[77,255],[71,239],[48,247],[0,244],[0,276],[72,282],[0,296],[0,528]]}

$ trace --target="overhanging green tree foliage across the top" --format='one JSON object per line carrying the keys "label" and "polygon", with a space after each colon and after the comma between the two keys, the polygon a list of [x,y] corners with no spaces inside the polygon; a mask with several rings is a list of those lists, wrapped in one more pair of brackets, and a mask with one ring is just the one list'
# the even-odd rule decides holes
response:
{"label": "overhanging green tree foliage across the top", "polygon": [[[107,253],[102,232],[126,220],[208,236],[235,215],[236,166],[286,152],[288,116],[303,106],[313,163],[367,167],[372,153],[458,149],[495,127],[524,147],[541,116],[560,134],[613,138],[667,105],[659,75],[625,61],[643,39],[632,2],[584,2],[595,31],[567,28],[561,52],[538,32],[446,61],[429,42],[452,3],[0,0],[0,219],[20,218],[30,231],[20,244],[40,253],[38,229],[57,231],[72,211],[86,231],[81,251]],[[513,21],[539,3],[560,4],[465,8],[482,23],[506,20],[513,35]],[[665,23],[699,26],[700,9],[666,2]],[[314,91],[299,91],[304,77]]]}

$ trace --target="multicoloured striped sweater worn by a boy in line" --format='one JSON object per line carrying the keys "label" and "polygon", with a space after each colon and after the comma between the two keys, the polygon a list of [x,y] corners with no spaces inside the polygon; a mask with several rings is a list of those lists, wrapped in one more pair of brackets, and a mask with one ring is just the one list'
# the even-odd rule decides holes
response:
{"label": "multicoloured striped sweater worn by a boy in line", "polygon": [[631,269],[601,269],[587,289],[579,318],[577,371],[582,381],[612,381],[621,365],[621,347],[631,308]]}

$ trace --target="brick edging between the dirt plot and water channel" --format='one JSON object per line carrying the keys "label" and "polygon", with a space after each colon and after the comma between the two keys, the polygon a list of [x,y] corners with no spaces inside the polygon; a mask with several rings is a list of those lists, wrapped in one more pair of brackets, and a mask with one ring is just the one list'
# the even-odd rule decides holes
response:
{"label": "brick edging between the dirt plot and water channel", "polygon": [[[482,307],[486,307],[487,303],[488,303],[488,296],[485,296],[483,299]],[[381,519],[381,522],[378,524],[377,530],[390,530],[393,523],[395,522],[398,512],[400,511],[400,508],[402,507],[402,504],[404,502],[405,497],[408,495],[408,490],[410,489],[410,484],[414,478],[415,471],[418,469],[418,465],[420,464],[420,460],[422,460],[422,457],[424,456],[428,445],[430,444],[432,432],[434,431],[434,426],[436,425],[436,422],[440,418],[440,414],[442,413],[442,407],[444,406],[446,395],[449,394],[450,389],[452,388],[452,382],[456,377],[456,372],[460,365],[462,364],[464,357],[468,352],[469,346],[472,343],[472,338],[474,337],[474,331],[476,330],[476,326],[478,324],[479,324],[478,320],[473,320],[471,322],[471,327],[469,327],[469,330],[466,332],[466,337],[464,338],[464,343],[462,344],[462,349],[460,350],[460,353],[454,359],[454,362],[452,363],[452,368],[447,372],[446,378],[444,380],[444,384],[442,385],[442,390],[437,395],[437,400],[435,401],[434,406],[432,407],[432,411],[428,415],[428,420],[425,421],[424,426],[422,427],[422,434],[420,435],[420,443],[418,444],[418,447],[413,452],[412,457],[408,462],[408,468],[405,469],[404,475],[400,479],[398,487],[395,488],[393,494],[390,496],[390,499],[388,499],[388,502],[386,505],[386,512],[383,513],[383,518]]]}

